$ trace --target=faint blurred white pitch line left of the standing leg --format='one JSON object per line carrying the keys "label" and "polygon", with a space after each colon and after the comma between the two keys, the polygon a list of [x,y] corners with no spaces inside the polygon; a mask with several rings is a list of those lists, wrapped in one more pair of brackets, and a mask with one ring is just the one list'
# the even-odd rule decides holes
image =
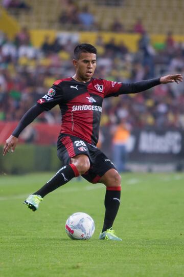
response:
{"label": "faint blurred white pitch line left of the standing leg", "polygon": [[[93,189],[99,189],[99,188],[105,188],[101,184],[94,184],[94,185],[88,185],[85,187],[68,187],[58,190],[58,193],[73,193],[74,191],[83,191],[83,190],[93,190]],[[6,200],[16,200],[16,199],[25,199],[28,197],[28,194],[20,194],[20,195],[10,195],[10,196],[0,196],[0,201],[6,201]]]}

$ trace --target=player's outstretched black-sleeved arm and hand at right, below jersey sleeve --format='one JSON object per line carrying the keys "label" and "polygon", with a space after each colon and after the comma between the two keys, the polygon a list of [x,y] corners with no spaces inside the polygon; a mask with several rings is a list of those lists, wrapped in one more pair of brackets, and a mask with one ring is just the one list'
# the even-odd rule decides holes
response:
{"label": "player's outstretched black-sleeved arm and hand at right, below jersey sleeve", "polygon": [[138,93],[151,89],[161,83],[182,82],[181,74],[167,75],[160,78],[143,80],[134,83],[122,83],[119,94]]}

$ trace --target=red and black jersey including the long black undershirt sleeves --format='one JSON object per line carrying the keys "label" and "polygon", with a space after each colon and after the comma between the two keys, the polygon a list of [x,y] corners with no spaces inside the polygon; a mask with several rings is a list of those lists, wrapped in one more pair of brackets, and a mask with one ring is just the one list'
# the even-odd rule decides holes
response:
{"label": "red and black jersey including the long black undershirt sleeves", "polygon": [[73,78],[55,81],[45,94],[21,118],[12,135],[17,137],[44,110],[60,106],[62,115],[61,134],[84,139],[88,143],[98,142],[103,99],[119,94],[137,93],[160,84],[160,78],[135,83],[118,83],[103,79],[77,82]]}

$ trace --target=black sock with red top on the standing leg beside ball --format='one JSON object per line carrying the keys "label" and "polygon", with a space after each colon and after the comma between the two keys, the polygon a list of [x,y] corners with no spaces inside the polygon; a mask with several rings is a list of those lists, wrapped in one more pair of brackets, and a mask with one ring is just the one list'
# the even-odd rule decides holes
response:
{"label": "black sock with red top on the standing leg beside ball", "polygon": [[102,232],[110,229],[120,206],[121,186],[110,186],[105,194],[105,218]]}

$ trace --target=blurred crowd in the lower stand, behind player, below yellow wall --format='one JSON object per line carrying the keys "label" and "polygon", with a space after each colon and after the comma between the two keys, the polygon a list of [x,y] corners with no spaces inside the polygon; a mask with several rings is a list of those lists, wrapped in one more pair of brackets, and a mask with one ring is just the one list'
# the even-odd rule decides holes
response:
{"label": "blurred crowd in the lower stand, behind player, below yellow wall", "polygon": [[[137,30],[141,28],[137,27]],[[160,49],[150,44],[145,30],[141,33],[136,53],[131,53],[123,41],[117,45],[112,38],[105,44],[99,36],[95,43],[98,50],[95,77],[136,82],[169,73],[183,73],[183,45],[176,44],[171,33]],[[38,99],[47,94],[55,80],[72,76],[71,59],[75,45],[71,39],[61,44],[57,37],[55,41],[45,37],[37,49],[31,44],[27,28],[22,28],[14,40],[1,33],[0,120],[20,120]],[[101,125],[111,126],[122,119],[132,127],[184,129],[183,84],[160,85],[148,92],[107,98],[103,104]],[[37,121],[60,123],[59,107],[42,113]]]}

